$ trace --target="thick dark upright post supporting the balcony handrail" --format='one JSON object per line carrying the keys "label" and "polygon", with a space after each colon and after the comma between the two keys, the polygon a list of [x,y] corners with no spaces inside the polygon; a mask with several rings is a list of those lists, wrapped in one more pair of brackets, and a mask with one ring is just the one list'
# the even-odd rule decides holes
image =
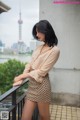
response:
{"label": "thick dark upright post supporting the balcony handrail", "polygon": [[15,106],[12,110],[12,120],[16,120],[16,91],[12,93],[12,105]]}

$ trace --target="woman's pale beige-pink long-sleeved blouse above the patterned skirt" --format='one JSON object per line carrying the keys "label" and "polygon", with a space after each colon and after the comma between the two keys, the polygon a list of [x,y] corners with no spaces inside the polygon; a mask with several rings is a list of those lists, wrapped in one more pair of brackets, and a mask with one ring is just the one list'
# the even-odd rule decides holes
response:
{"label": "woman's pale beige-pink long-sleeved blouse above the patterned skirt", "polygon": [[28,73],[34,80],[42,83],[44,77],[59,58],[60,50],[57,46],[46,47],[40,45],[33,52],[32,60],[25,66],[24,72]]}

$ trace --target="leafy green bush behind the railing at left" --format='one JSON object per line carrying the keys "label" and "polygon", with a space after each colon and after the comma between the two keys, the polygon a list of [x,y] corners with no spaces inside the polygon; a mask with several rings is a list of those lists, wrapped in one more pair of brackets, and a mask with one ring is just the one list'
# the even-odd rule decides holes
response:
{"label": "leafy green bush behind the railing at left", "polygon": [[8,60],[0,64],[0,91],[1,94],[12,87],[15,76],[21,74],[24,70],[25,64],[15,59]]}

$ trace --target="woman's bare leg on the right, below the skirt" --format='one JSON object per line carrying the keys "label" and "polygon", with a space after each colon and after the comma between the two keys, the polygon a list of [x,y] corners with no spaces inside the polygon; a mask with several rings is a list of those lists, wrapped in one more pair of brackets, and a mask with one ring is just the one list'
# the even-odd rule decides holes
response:
{"label": "woman's bare leg on the right, below the skirt", "polygon": [[49,103],[38,102],[40,120],[50,120]]}

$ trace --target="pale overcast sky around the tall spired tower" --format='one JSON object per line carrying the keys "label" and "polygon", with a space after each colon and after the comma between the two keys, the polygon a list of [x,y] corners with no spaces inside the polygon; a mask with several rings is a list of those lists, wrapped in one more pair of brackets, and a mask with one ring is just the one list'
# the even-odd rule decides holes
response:
{"label": "pale overcast sky around the tall spired tower", "polygon": [[[0,14],[0,40],[11,46],[19,40],[19,10],[22,11],[22,40],[29,46],[32,28],[39,21],[39,0],[1,0],[11,9]],[[21,1],[21,2],[20,2]]]}

